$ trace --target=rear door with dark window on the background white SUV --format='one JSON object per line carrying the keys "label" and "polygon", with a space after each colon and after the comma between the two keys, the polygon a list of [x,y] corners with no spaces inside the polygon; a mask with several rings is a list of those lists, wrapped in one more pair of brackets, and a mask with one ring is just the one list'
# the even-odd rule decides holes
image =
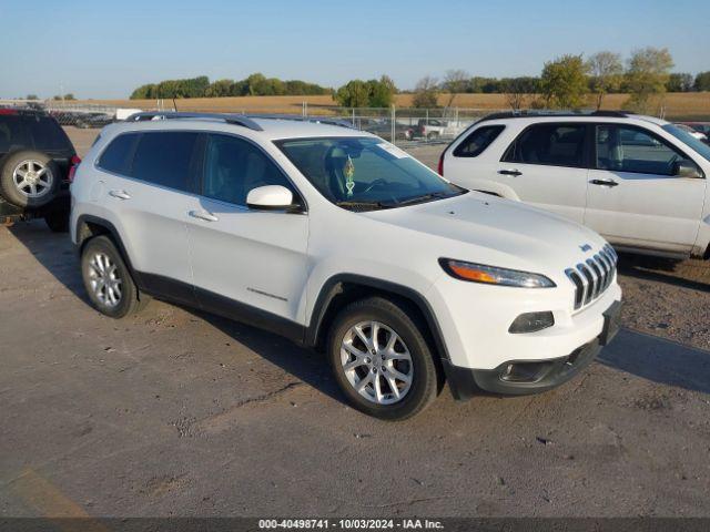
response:
{"label": "rear door with dark window on the background white SUV", "polygon": [[495,181],[538,207],[581,223],[587,202],[587,125],[545,122],[524,130],[495,168]]}

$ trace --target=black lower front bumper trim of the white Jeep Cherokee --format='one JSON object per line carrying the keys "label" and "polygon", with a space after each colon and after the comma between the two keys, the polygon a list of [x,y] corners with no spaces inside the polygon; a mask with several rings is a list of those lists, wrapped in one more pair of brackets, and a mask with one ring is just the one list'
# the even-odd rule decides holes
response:
{"label": "black lower front bumper trim of the white Jeep Cherokee", "polygon": [[528,395],[547,391],[567,382],[596,358],[601,348],[619,331],[621,301],[604,313],[599,336],[565,357],[540,360],[508,360],[494,369],[470,369],[443,360],[446,378],[455,399],[466,400],[484,392]]}

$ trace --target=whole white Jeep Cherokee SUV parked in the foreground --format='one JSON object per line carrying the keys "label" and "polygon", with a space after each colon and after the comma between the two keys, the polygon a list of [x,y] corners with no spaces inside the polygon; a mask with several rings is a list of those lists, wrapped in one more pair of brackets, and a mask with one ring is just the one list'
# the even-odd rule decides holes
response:
{"label": "whole white Jeep Cherokee SUV parked in the foreground", "polygon": [[101,132],[71,192],[101,313],[150,295],[322,347],[379,418],[420,411],[445,378],[458,399],[547,390],[618,330],[601,237],[348,127],[139,114]]}

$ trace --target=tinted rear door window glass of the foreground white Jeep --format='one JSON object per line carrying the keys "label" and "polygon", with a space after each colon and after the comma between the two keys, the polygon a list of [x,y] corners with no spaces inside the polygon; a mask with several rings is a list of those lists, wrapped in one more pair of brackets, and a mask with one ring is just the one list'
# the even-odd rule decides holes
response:
{"label": "tinted rear door window glass of the foreground white Jeep", "polygon": [[195,191],[197,136],[199,133],[178,131],[141,134],[131,177],[178,191]]}

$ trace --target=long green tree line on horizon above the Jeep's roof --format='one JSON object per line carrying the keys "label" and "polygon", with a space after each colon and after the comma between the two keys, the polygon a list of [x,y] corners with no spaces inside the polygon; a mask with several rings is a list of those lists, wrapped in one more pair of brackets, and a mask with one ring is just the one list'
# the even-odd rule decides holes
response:
{"label": "long green tree line on horizon above the Jeep's roof", "polygon": [[217,80],[210,82],[206,75],[182,80],[165,80],[148,83],[131,93],[131,100],[159,98],[221,98],[221,96],[304,96],[331,94],[332,89],[301,80],[283,81],[266,78],[262,73],[251,74],[244,80]]}

